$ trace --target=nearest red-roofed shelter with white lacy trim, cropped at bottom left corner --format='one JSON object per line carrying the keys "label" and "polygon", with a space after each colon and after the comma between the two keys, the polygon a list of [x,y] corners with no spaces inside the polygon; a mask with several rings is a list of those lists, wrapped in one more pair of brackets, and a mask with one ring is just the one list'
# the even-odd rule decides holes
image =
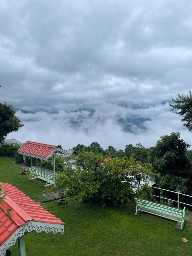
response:
{"label": "nearest red-roofed shelter with white lacy trim, cropped at bottom left corner", "polygon": [[[0,182],[4,198],[0,204],[0,256],[18,240],[19,256],[25,256],[25,232],[64,233],[64,225],[15,186]],[[2,197],[2,195],[1,195]],[[9,210],[10,218],[7,210]]]}

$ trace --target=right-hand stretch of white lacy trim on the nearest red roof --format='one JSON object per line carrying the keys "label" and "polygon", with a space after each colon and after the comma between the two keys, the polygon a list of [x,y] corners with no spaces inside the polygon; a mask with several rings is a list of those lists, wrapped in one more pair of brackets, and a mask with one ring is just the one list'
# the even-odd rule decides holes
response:
{"label": "right-hand stretch of white lacy trim on the nearest red roof", "polygon": [[54,234],[60,232],[61,234],[63,234],[64,233],[64,225],[27,221],[26,222],[26,230],[28,232],[35,230],[37,233],[44,231],[46,234],[49,232],[53,232]]}

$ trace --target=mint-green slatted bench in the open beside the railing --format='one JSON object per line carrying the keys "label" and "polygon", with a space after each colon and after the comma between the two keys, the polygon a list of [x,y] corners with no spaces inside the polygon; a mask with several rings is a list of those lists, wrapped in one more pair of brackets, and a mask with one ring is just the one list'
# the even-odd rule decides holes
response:
{"label": "mint-green slatted bench in the open beside the railing", "polygon": [[135,198],[135,202],[137,205],[135,215],[139,216],[142,212],[151,213],[163,218],[175,220],[177,221],[176,228],[183,229],[185,223],[185,207],[183,210],[180,210],[137,198]]}

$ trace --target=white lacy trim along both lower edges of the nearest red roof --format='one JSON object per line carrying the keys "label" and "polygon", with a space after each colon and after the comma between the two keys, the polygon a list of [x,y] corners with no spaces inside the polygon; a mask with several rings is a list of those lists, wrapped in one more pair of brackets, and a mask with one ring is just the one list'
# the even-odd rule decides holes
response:
{"label": "white lacy trim along both lower edges of the nearest red roof", "polygon": [[54,234],[60,232],[64,233],[64,225],[61,224],[51,224],[44,222],[35,222],[35,221],[27,221],[25,224],[20,226],[11,236],[8,238],[5,243],[3,243],[0,247],[0,256],[5,255],[6,250],[13,246],[17,238],[23,236],[26,231],[31,232],[35,230],[37,233],[44,231],[46,234],[49,232],[53,232]]}

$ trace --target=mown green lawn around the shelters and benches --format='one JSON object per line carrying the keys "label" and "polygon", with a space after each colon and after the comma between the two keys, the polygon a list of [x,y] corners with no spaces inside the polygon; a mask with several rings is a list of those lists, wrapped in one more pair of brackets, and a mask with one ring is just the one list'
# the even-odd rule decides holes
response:
{"label": "mown green lawn around the shelters and benches", "polygon": [[[35,181],[28,182],[5,161],[0,179],[12,183],[28,195],[41,193]],[[1,163],[1,166],[3,164]],[[2,168],[0,169],[2,172]],[[7,172],[10,175],[7,175]],[[12,179],[22,179],[12,181]],[[22,183],[22,184],[20,184]],[[18,186],[18,185],[20,186]],[[28,187],[30,185],[30,188]],[[42,184],[41,184],[42,185]],[[57,201],[44,204],[55,216],[65,222],[64,235],[31,232],[25,235],[26,255],[192,255],[192,222],[186,221],[184,230],[176,230],[176,222],[142,213],[135,216],[135,205],[105,208],[100,205],[71,200],[60,206]],[[188,219],[191,214],[188,214]],[[181,238],[187,238],[183,243]],[[10,247],[11,255],[18,255],[17,245]]]}

